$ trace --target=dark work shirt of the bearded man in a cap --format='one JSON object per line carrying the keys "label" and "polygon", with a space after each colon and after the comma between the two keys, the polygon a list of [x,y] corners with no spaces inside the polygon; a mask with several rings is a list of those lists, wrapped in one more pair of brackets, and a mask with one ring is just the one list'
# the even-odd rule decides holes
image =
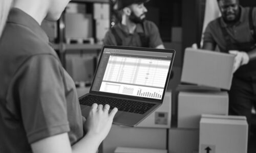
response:
{"label": "dark work shirt of the bearded man in a cap", "polygon": [[[137,24],[133,34],[129,32],[126,25],[118,23],[113,28],[116,29],[118,36],[122,40],[123,46],[142,47],[142,42],[138,33],[144,33],[148,38],[148,46],[155,48],[158,45],[163,44],[158,28],[152,21],[145,20],[142,24]],[[111,30],[109,30],[103,40],[103,45],[117,45],[116,38]]]}

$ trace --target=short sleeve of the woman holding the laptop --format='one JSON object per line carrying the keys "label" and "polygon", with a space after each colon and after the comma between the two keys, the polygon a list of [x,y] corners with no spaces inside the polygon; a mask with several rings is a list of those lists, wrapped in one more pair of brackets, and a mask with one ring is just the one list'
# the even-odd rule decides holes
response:
{"label": "short sleeve of the woman holding the laptop", "polygon": [[20,67],[20,112],[29,143],[70,131],[59,61],[52,55],[30,57]]}

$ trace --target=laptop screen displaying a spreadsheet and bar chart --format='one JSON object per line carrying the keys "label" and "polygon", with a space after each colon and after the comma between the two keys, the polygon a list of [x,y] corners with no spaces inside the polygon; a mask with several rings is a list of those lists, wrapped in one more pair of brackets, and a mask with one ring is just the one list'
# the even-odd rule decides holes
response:
{"label": "laptop screen displaying a spreadsheet and bar chart", "polygon": [[91,90],[162,99],[172,56],[104,48]]}

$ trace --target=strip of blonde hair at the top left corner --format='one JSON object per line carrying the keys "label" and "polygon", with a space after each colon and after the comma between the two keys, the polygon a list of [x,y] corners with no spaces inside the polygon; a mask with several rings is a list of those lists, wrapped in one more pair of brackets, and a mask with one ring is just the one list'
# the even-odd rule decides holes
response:
{"label": "strip of blonde hair at the top left corner", "polygon": [[5,23],[11,9],[13,0],[0,0],[0,36],[5,28]]}

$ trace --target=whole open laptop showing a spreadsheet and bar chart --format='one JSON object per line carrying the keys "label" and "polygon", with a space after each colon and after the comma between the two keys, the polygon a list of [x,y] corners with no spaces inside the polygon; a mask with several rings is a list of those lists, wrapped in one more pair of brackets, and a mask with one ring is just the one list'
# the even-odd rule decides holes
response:
{"label": "whole open laptop showing a spreadsheet and bar chart", "polygon": [[103,46],[89,93],[79,97],[82,115],[93,103],[118,108],[113,123],[136,126],[163,103],[175,50]]}

